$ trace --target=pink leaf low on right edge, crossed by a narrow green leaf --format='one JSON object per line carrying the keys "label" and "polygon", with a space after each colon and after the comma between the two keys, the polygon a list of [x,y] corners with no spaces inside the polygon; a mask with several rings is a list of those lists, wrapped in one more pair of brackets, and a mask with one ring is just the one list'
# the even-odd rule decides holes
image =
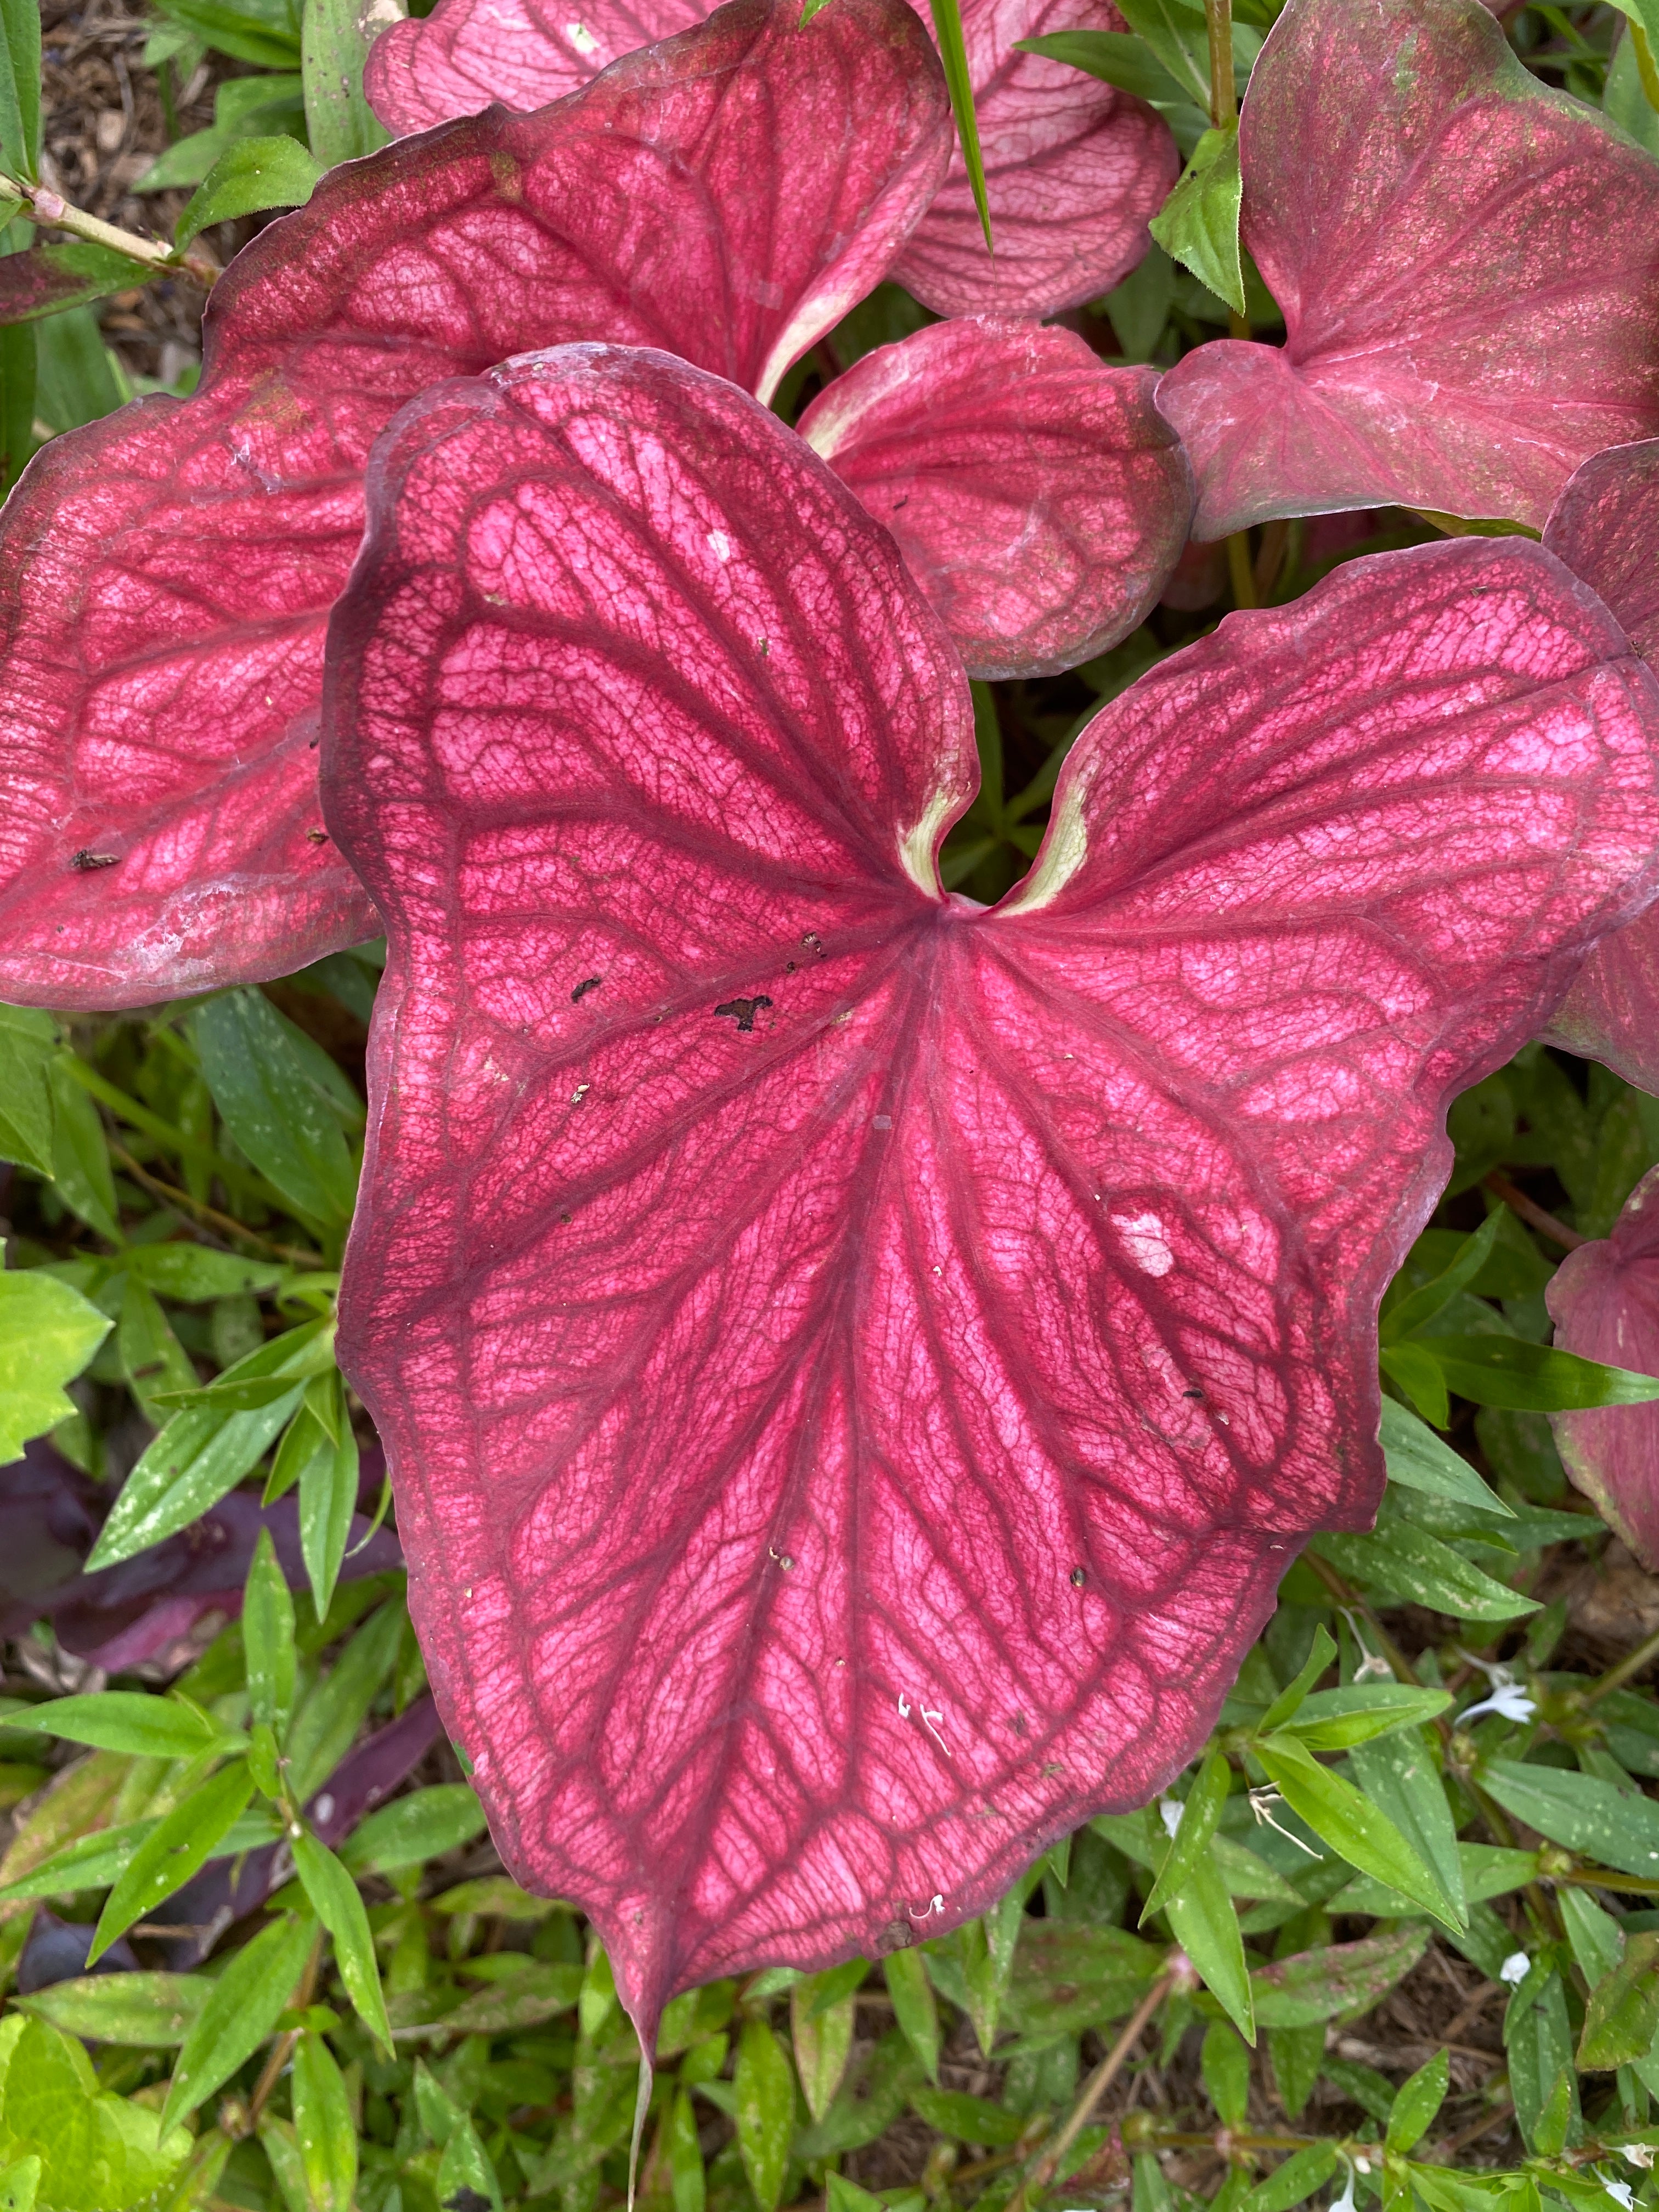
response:
{"label": "pink leaf low on right edge, crossed by a narrow green leaf", "polygon": [[[1659,1374],[1659,1168],[1613,1234],[1568,1252],[1544,1292],[1555,1343],[1586,1360]],[[1566,1471],[1650,1573],[1659,1573],[1659,1405],[1551,1413]]]}

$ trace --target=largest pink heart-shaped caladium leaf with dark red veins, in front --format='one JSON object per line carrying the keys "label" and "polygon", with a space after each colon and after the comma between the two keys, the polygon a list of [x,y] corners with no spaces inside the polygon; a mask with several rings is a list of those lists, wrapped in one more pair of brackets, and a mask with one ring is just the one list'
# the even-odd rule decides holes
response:
{"label": "largest pink heart-shaped caladium leaf with dark red veins, in front", "polygon": [[1537,544],[1349,564],[1104,708],[984,911],[891,538],[566,347],[387,434],[325,721],[389,938],[341,1363],[498,1845],[650,2046],[1144,1803],[1369,1522],[1447,1097],[1650,896],[1659,688]]}

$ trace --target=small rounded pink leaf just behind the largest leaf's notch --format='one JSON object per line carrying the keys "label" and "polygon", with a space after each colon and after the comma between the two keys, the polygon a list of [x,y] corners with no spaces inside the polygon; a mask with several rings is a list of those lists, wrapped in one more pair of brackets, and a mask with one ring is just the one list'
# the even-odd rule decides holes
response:
{"label": "small rounded pink leaf just behind the largest leaf's notch", "polygon": [[898,540],[969,675],[1075,668],[1157,604],[1192,469],[1150,369],[1068,330],[931,323],[865,354],[801,436]]}

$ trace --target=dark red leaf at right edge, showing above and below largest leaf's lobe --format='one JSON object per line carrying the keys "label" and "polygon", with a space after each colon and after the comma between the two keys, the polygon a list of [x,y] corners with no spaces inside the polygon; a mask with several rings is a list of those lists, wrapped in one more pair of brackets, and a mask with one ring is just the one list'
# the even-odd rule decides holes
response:
{"label": "dark red leaf at right edge, showing above and below largest leaf's lobe", "polygon": [[[1544,544],[1599,593],[1648,664],[1659,664],[1659,438],[1615,445],[1573,476]],[[1553,1044],[1659,1091],[1659,918],[1604,938],[1548,1026]]]}

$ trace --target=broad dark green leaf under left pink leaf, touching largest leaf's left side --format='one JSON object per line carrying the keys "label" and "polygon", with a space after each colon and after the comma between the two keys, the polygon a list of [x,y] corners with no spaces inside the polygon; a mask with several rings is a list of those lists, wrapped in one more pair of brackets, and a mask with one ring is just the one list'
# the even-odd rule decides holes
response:
{"label": "broad dark green leaf under left pink leaf, touching largest leaf's left side", "polygon": [[[246,139],[239,155],[246,157],[250,146],[276,144],[310,161],[292,139]],[[212,177],[201,192],[210,188]],[[361,1106],[327,1053],[285,1020],[263,991],[252,989],[208,1000],[197,1009],[190,1033],[212,1102],[254,1168],[310,1221],[347,1223],[356,1203],[356,1168],[341,1115],[356,1117]]]}

